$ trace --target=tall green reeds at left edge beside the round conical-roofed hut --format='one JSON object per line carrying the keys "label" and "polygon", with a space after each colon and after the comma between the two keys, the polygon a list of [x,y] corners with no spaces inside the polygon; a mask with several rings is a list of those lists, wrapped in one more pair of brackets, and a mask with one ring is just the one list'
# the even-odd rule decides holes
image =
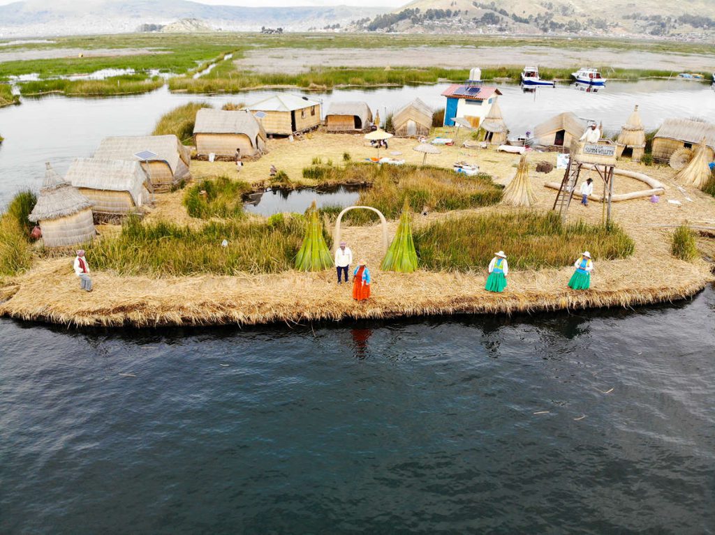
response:
{"label": "tall green reeds at left edge beside the round conical-roofed hut", "polygon": [[21,191],[0,216],[0,275],[18,274],[32,264],[29,233],[34,224],[27,216],[36,202],[34,193]]}

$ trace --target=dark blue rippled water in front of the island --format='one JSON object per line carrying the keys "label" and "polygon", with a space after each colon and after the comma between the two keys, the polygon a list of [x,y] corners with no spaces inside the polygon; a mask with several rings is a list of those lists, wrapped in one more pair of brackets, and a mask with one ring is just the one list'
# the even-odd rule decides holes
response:
{"label": "dark blue rippled water in front of the island", "polygon": [[0,532],[711,534],[714,326],[0,319]]}

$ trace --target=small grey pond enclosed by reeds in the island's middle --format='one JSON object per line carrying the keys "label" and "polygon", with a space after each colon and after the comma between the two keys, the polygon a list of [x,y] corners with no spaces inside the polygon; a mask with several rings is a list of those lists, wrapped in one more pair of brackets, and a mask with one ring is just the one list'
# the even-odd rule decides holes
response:
{"label": "small grey pond enclosed by reeds in the island's middle", "polygon": [[360,190],[365,186],[334,186],[330,188],[267,189],[248,194],[244,209],[250,214],[272,216],[285,212],[302,214],[312,201],[317,208],[325,206],[352,206],[360,199]]}

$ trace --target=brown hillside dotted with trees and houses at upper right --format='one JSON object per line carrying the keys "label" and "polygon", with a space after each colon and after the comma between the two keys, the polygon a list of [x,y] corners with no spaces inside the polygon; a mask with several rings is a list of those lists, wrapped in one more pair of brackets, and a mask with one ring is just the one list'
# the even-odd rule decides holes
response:
{"label": "brown hillside dotted with trees and houses at upper right", "polygon": [[415,0],[355,29],[423,33],[715,36],[715,0]]}

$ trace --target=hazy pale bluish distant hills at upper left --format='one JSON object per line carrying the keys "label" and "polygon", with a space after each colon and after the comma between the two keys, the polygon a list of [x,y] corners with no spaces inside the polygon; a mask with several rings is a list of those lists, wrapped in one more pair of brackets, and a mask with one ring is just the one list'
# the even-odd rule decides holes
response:
{"label": "hazy pale bluish distant hills at upper left", "polygon": [[[280,26],[300,31],[340,27],[385,11],[352,6],[210,6],[188,0],[25,0],[0,6],[0,37],[116,34],[186,19],[215,29],[258,31],[262,26]],[[179,27],[188,29],[185,24]]]}

